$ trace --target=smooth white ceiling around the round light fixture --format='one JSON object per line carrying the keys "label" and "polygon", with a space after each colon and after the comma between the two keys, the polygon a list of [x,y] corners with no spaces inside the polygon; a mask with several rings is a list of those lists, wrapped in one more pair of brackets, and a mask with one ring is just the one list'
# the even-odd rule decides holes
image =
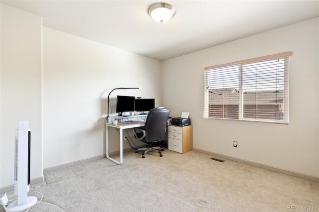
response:
{"label": "smooth white ceiling around the round light fixture", "polygon": [[165,0],[166,23],[148,14],[154,0],[0,0],[43,17],[43,26],[160,61],[319,17],[319,0]]}

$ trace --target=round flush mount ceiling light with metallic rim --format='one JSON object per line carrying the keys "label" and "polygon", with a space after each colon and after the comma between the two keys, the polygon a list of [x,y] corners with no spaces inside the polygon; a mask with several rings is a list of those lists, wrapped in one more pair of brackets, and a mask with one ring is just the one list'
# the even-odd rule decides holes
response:
{"label": "round flush mount ceiling light with metallic rim", "polygon": [[151,17],[159,22],[165,23],[175,14],[175,8],[169,3],[155,3],[149,8]]}

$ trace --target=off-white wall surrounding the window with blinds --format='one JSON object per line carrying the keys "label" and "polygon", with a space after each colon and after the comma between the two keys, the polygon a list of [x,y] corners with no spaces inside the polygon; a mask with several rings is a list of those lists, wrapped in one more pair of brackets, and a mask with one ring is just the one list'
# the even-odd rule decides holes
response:
{"label": "off-white wall surrounding the window with blinds", "polygon": [[[286,51],[288,125],[203,119],[204,67]],[[162,63],[163,104],[190,112],[195,149],[319,177],[318,59],[319,18],[187,54]]]}

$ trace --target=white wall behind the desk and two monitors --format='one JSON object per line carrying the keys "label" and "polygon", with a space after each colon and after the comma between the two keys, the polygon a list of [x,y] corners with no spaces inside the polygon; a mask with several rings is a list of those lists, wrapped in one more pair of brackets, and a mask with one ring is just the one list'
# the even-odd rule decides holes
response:
{"label": "white wall behind the desk and two monitors", "polygon": [[[155,98],[160,106],[160,68],[160,61],[43,27],[44,168],[105,154],[109,92],[140,88],[113,92],[113,112],[117,95]],[[119,133],[110,134],[114,152]]]}

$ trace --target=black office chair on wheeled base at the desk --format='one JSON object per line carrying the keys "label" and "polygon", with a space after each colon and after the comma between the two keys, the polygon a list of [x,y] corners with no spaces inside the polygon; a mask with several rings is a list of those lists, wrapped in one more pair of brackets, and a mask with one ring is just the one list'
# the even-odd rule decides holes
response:
{"label": "black office chair on wheeled base at the desk", "polygon": [[165,139],[168,116],[169,110],[167,108],[153,108],[149,111],[145,126],[134,128],[135,137],[148,144],[148,147],[141,147],[135,150],[136,153],[140,150],[144,150],[142,158],[145,158],[145,154],[150,151],[156,151],[160,154],[160,157],[163,156],[160,151],[164,151],[164,149],[161,146],[154,147],[153,145]]}

